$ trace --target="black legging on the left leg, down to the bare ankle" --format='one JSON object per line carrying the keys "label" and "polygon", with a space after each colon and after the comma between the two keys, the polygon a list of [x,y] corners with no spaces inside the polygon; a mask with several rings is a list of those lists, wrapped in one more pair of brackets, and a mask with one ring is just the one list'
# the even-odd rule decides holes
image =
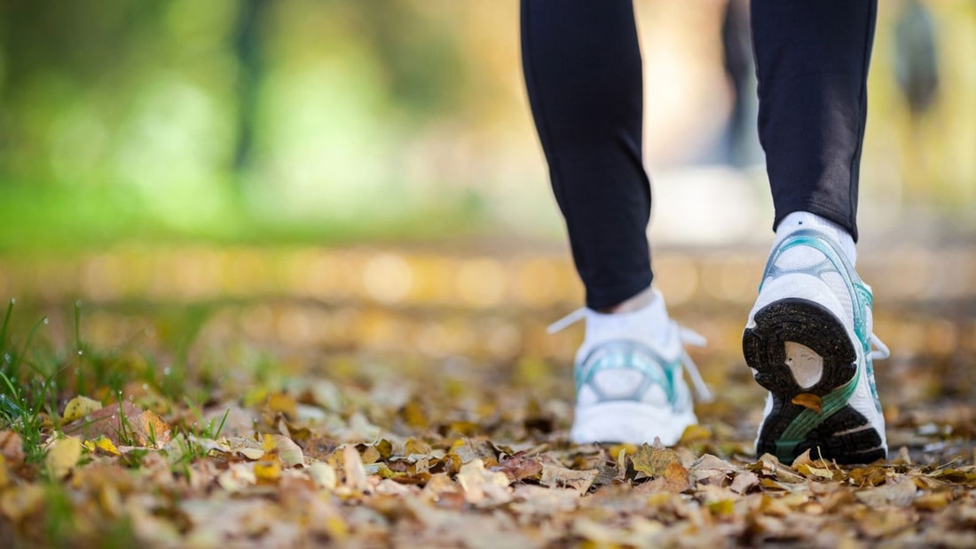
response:
{"label": "black legging on the left leg, down to the bare ankle", "polygon": [[651,285],[651,191],[630,0],[523,0],[522,66],[587,306]]}

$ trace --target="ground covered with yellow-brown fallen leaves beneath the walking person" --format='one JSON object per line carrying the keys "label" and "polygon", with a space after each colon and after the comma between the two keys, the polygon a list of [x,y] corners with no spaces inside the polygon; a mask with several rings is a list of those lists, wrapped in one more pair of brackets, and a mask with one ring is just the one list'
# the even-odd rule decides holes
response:
{"label": "ground covered with yellow-brown fallen leaves beneath the walking person", "polygon": [[568,442],[582,330],[545,333],[578,298],[561,253],[8,263],[0,539],[976,546],[974,266],[943,253],[958,268],[862,259],[894,352],[876,365],[892,451],[856,467],[752,454],[762,392],[738,337],[761,254],[659,260],[673,316],[710,339],[693,356],[719,396],[672,449]]}

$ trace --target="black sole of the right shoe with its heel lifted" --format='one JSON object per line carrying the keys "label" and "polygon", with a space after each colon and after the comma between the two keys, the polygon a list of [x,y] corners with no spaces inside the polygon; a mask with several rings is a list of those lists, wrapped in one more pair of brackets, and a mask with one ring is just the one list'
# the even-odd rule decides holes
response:
{"label": "black sole of the right shoe with its heel lifted", "polygon": [[[756,440],[756,454],[772,453],[784,463],[792,463],[807,450],[814,458],[844,464],[886,457],[881,437],[868,418],[849,406],[847,398],[836,400],[834,390],[857,374],[857,353],[834,313],[814,301],[791,297],[762,307],[753,319],[755,326],[743,333],[743,355],[756,382],[773,399]],[[820,377],[811,386],[801,387],[787,365],[787,342],[791,341],[823,361]],[[816,405],[811,403],[818,399],[797,399],[803,394],[819,397],[823,411],[812,410]],[[807,406],[795,404],[797,401]],[[812,428],[805,427],[810,425]]]}

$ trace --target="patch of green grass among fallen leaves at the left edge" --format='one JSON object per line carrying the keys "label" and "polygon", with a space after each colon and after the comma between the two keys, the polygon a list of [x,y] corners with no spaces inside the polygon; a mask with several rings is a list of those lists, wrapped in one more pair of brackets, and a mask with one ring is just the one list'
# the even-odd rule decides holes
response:
{"label": "patch of green grass among fallen leaves at the left edge", "polygon": [[[66,343],[61,348],[52,343],[54,338],[48,333],[47,317],[26,322],[26,318],[36,318],[35,314],[20,310],[14,299],[8,303],[0,325],[0,429],[13,429],[20,435],[25,461],[38,476],[48,476],[42,466],[45,442],[61,428],[63,405],[78,395],[102,400],[105,406],[121,405],[123,391],[132,382],[149,387],[150,394],[156,395],[150,397],[154,399],[151,403],[137,399],[136,404],[141,408],[151,410],[155,407],[156,412],[165,414],[185,406],[183,416],[196,418],[192,423],[175,423],[174,434],[208,439],[220,436],[227,412],[210,420],[204,420],[203,414],[220,376],[205,370],[191,373],[187,364],[188,349],[209,318],[209,308],[174,306],[157,311],[161,317],[160,326],[172,328],[161,337],[164,343],[162,354],[172,357],[173,361],[165,367],[145,354],[134,360],[124,348],[94,347],[82,336],[82,303],[76,301],[72,312],[74,324],[68,329],[70,336],[64,338]],[[160,406],[165,410],[159,410]],[[122,413],[119,442],[134,446],[130,418],[125,416],[121,406],[119,411]],[[153,446],[154,438],[155,433],[150,432],[149,442]],[[183,465],[175,465],[177,468],[185,468],[199,457],[199,449],[187,444],[189,446],[183,449],[187,459],[182,461]],[[138,464],[138,455],[134,455],[131,465]]]}

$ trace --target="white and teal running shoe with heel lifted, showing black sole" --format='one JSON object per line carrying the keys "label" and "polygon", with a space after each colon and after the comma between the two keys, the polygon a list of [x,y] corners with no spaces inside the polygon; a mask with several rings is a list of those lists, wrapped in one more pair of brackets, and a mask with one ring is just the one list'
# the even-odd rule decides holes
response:
{"label": "white and teal running shoe with heel lifted, showing black sole", "polygon": [[873,361],[888,349],[872,333],[871,287],[815,229],[788,235],[762,279],[742,339],[756,382],[769,390],[756,453],[785,463],[806,450],[839,463],[885,458]]}

